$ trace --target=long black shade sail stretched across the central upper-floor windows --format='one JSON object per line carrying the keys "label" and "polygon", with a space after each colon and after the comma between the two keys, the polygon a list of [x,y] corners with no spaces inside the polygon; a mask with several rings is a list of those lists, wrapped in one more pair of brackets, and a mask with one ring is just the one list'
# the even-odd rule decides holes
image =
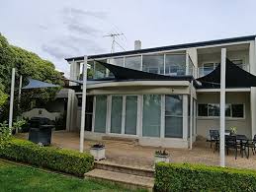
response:
{"label": "long black shade sail stretched across the central upper-floor windows", "polygon": [[110,63],[105,63],[102,61],[97,61],[102,64],[104,67],[109,69],[116,80],[156,80],[156,81],[189,81],[193,80],[193,77],[190,75],[186,76],[165,76],[154,73],[148,73],[143,71],[138,71],[134,69],[129,69],[126,67],[121,67],[117,65],[112,65]]}

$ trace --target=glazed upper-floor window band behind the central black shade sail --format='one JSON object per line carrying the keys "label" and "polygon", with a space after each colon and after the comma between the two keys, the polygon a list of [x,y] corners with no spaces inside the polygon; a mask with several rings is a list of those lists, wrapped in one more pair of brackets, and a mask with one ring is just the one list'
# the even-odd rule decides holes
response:
{"label": "glazed upper-floor window band behind the central black shade sail", "polygon": [[[185,51],[115,57],[102,60],[113,65],[166,76],[196,76],[195,66]],[[88,78],[112,77],[113,74],[97,61],[88,61]],[[81,76],[80,76],[81,79]]]}

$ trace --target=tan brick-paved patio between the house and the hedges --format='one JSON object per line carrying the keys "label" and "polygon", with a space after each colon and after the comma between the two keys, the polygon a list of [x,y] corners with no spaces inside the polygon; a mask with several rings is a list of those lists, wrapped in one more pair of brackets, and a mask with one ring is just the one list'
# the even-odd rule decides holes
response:
{"label": "tan brick-paved patio between the house and the hedges", "polygon": [[[28,134],[19,134],[19,138],[28,138]],[[89,151],[90,146],[96,141],[85,140],[85,151]],[[153,155],[155,150],[159,148],[134,146],[130,142],[123,141],[101,141],[106,146],[106,161],[115,163],[128,164],[132,166],[151,167],[153,164]],[[65,131],[55,131],[52,135],[52,145],[66,149],[79,150],[79,134]],[[171,155],[173,162],[190,162],[204,163],[208,165],[218,165],[219,155],[213,153],[210,144],[205,141],[195,143],[193,150],[189,149],[166,149]],[[247,160],[238,155],[237,160],[234,159],[232,153],[226,156],[226,165],[231,167],[253,168],[256,169],[256,156],[252,156]]]}

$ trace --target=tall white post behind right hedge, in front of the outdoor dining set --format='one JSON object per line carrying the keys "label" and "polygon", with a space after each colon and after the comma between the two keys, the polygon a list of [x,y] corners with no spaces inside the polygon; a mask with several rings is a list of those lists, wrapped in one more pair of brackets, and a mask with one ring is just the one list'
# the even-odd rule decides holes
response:
{"label": "tall white post behind right hedge, in front of the outdoor dining set", "polygon": [[219,118],[219,157],[220,166],[225,166],[225,60],[226,49],[221,48],[220,64],[220,118]]}

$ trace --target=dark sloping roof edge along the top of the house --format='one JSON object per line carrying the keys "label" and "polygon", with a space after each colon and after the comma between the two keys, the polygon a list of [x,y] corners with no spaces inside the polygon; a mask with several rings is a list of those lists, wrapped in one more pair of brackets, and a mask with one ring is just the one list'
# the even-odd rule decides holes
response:
{"label": "dark sloping roof edge along the top of the house", "polygon": [[[88,59],[99,59],[99,58],[106,58],[106,57],[125,56],[125,55],[130,55],[130,54],[141,54],[141,53],[148,53],[148,52],[157,52],[157,51],[165,51],[165,50],[175,50],[175,49],[183,49],[183,48],[247,41],[247,40],[254,40],[255,37],[256,37],[256,35],[247,35],[247,36],[239,36],[239,37],[232,37],[232,38],[215,39],[215,40],[209,40],[209,41],[192,42],[192,43],[160,46],[160,47],[153,47],[153,48],[144,48],[144,49],[138,49],[138,50],[128,50],[128,51],[123,51],[123,52],[89,55]],[[84,58],[84,56],[79,56],[79,57],[65,58],[65,60],[66,61],[72,61],[72,60],[77,61],[77,60],[83,60],[83,58]]]}

